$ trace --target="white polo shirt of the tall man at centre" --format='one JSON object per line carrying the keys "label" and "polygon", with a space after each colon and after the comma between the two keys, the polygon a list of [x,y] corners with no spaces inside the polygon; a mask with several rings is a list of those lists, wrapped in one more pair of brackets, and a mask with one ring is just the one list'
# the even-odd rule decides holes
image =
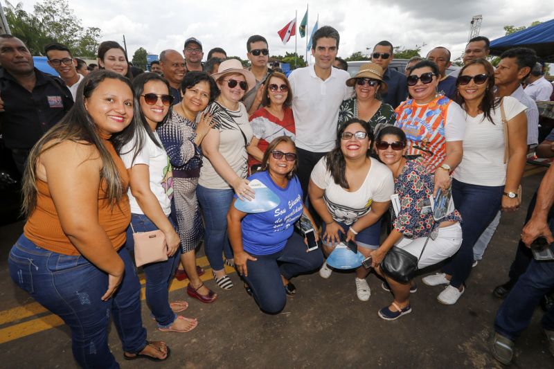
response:
{"label": "white polo shirt of the tall man at centre", "polygon": [[292,71],[292,112],[296,125],[296,146],[310,152],[328,152],[337,139],[337,122],[341,102],[352,97],[346,86],[347,71],[331,68],[331,75],[321,80],[314,66]]}

